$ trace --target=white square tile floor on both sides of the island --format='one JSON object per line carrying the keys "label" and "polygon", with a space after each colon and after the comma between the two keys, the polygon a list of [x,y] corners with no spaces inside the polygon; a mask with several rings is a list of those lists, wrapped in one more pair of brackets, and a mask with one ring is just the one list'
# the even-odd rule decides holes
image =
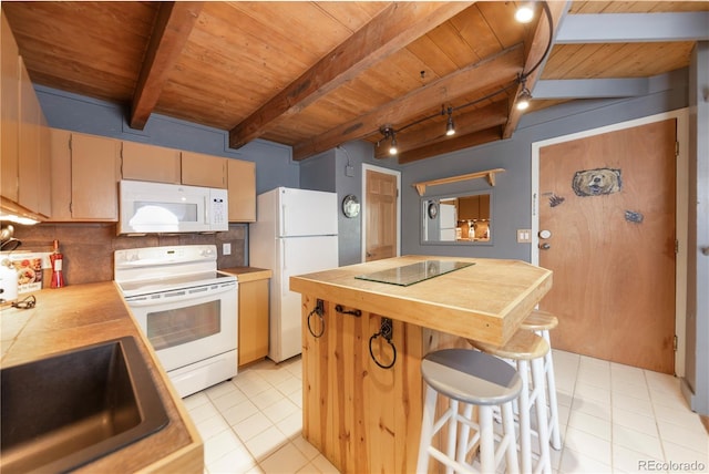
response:
{"label": "white square tile floor on both sides of the island", "polygon": [[[552,450],[555,473],[709,473],[709,435],[678,379],[563,351],[554,363],[564,442]],[[299,357],[265,360],[184,399],[205,473],[337,473],[300,435],[301,374]]]}

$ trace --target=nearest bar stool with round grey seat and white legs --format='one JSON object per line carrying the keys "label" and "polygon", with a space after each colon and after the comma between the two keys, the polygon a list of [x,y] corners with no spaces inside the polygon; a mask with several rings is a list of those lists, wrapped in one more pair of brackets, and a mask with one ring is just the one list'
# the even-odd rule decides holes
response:
{"label": "nearest bar stool with round grey seat and white legs", "polygon": [[[446,473],[476,472],[465,458],[469,451],[480,443],[481,472],[494,473],[503,454],[508,472],[518,472],[512,402],[522,390],[522,378],[504,361],[470,349],[443,349],[429,353],[421,361],[421,374],[427,383],[421,441],[417,473],[427,473],[432,456],[446,466]],[[438,395],[449,399],[449,408],[435,420]],[[465,404],[465,414],[459,411],[459,402]],[[479,408],[477,423],[472,421],[472,406]],[[493,408],[502,412],[503,433],[495,450]],[[446,424],[445,453],[432,445],[433,436]],[[461,440],[456,440],[459,423]],[[470,429],[475,429],[467,440]],[[456,450],[458,441],[458,450]]]}

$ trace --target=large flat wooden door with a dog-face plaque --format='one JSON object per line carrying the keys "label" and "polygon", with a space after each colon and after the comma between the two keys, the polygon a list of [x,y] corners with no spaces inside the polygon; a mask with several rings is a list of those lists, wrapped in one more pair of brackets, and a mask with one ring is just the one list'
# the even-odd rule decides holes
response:
{"label": "large flat wooden door with a dog-face plaque", "polygon": [[540,150],[553,347],[674,372],[675,144],[672,118]]}

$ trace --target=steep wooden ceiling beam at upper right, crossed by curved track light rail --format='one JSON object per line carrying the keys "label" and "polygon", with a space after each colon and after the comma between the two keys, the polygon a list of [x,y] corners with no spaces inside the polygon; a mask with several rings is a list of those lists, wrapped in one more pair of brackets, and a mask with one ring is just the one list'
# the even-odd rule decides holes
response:
{"label": "steep wooden ceiling beam at upper right, crossed by curved track light rail", "polygon": [[[559,24],[562,23],[562,19],[564,21],[567,16],[566,12],[571,7],[569,1],[547,1],[546,2],[551,17],[552,17],[552,37],[549,38],[549,23],[546,14],[542,14],[540,21],[536,23],[536,30],[532,37],[532,43],[527,50],[527,55],[524,61],[524,72],[528,73],[528,71],[534,68],[537,62],[541,61],[540,65],[527,76],[526,79],[526,87],[531,91],[534,89],[534,84],[537,79],[542,75],[542,71],[544,70],[544,64],[548,59],[548,55],[545,58],[544,52],[546,51],[546,47],[552,42],[554,44],[554,37],[556,31],[559,29]],[[549,48],[549,53],[552,49]],[[515,93],[515,97],[522,92],[523,85],[520,84],[517,86],[517,91]],[[517,110],[515,106],[515,101],[510,101],[510,117],[507,120],[507,124],[505,125],[505,131],[503,133],[503,138],[510,138],[514,131],[517,128],[517,124],[520,123],[520,118],[522,118],[522,112]]]}

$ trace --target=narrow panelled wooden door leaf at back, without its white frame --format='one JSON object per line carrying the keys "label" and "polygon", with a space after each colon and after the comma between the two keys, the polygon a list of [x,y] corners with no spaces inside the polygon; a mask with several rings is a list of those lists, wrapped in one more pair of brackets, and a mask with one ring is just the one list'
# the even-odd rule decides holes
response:
{"label": "narrow panelled wooden door leaf at back, without its white frame", "polygon": [[364,261],[397,256],[397,176],[367,169]]}

